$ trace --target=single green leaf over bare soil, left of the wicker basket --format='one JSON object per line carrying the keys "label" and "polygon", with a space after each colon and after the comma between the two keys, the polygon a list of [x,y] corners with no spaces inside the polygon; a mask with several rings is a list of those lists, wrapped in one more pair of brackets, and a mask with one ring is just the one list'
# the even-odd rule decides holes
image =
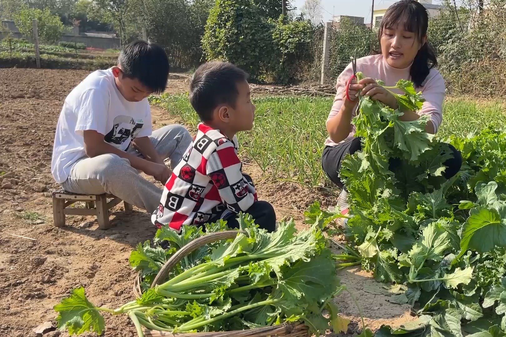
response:
{"label": "single green leaf over bare soil, left of the wicker basket", "polygon": [[102,334],[105,329],[104,317],[85,295],[85,288],[78,287],[70,295],[54,306],[58,312],[56,321],[59,329],[67,329],[70,335],[86,331]]}

